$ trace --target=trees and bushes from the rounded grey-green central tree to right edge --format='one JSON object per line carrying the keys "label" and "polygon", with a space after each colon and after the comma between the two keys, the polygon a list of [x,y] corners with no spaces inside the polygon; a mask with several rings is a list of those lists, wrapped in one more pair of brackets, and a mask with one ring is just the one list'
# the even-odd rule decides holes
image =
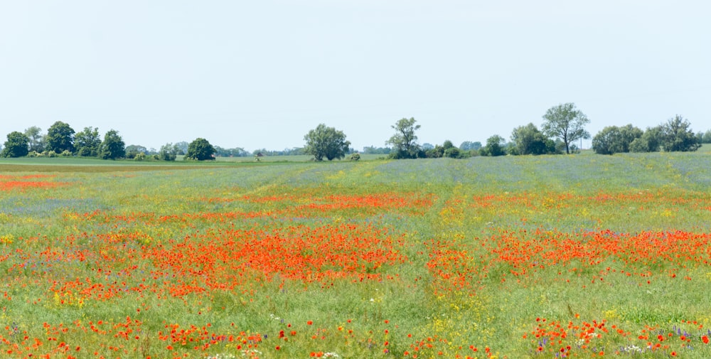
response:
{"label": "trees and bushes from the rounded grey-green central tree to right edge", "polygon": [[[533,123],[516,127],[510,135],[510,141],[495,134],[486,140],[486,145],[479,142],[464,141],[459,147],[451,141],[441,145],[417,143],[417,130],[420,125],[414,118],[403,118],[392,125],[395,130],[390,139],[385,141],[391,147],[365,147],[365,154],[384,154],[391,159],[419,158],[466,158],[471,156],[541,155],[571,154],[579,149],[575,142],[589,139],[585,125],[590,120],[575,107],[566,103],[551,107],[542,116],[540,129]],[[316,161],[323,159],[343,159],[350,142],[343,132],[319,124],[304,136],[305,152],[314,156]],[[668,122],[646,130],[628,124],[623,127],[605,127],[592,137],[592,149],[597,154],[616,154],[621,152],[654,151],[696,151],[702,143],[711,143],[711,129],[707,132],[694,133],[687,119],[675,116]],[[351,155],[353,156],[353,155]],[[352,157],[353,159],[353,157]]]}

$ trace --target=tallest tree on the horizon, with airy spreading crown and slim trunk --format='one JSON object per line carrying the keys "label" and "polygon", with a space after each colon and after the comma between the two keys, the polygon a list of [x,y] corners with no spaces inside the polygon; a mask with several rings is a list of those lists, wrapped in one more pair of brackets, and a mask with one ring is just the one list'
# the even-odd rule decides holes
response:
{"label": "tallest tree on the horizon, with airy spreading crown and slim trunk", "polygon": [[543,119],[543,133],[561,139],[565,144],[566,154],[570,154],[570,144],[573,141],[590,138],[589,132],[584,128],[590,120],[584,113],[575,109],[572,102],[551,107],[545,112]]}

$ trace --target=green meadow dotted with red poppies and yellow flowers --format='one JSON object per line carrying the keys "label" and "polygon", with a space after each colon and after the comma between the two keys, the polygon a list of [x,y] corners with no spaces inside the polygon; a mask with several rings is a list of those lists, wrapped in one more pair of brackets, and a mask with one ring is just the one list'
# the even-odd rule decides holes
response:
{"label": "green meadow dotted with red poppies and yellow flowers", "polygon": [[711,358],[709,151],[30,160],[4,358]]}

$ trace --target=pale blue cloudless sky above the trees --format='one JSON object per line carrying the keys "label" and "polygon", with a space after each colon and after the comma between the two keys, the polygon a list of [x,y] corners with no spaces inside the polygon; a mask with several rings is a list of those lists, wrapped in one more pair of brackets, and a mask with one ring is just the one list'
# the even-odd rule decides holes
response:
{"label": "pale blue cloudless sky above the trees", "polygon": [[[414,117],[420,144],[540,128],[573,102],[596,134],[676,114],[711,129],[711,2],[0,0],[0,142],[57,121],[159,149],[355,149]],[[584,141],[589,147],[589,141]]]}

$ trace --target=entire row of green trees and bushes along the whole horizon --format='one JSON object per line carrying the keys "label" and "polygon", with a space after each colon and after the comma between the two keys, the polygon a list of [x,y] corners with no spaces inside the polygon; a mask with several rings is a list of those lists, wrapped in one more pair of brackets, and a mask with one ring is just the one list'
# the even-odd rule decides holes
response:
{"label": "entire row of green trees and bushes along the whole horizon", "polygon": [[[417,131],[420,125],[415,118],[402,118],[392,125],[395,130],[390,139],[385,141],[385,147],[369,146],[363,148],[364,154],[382,154],[392,159],[417,158],[466,158],[471,156],[502,156],[510,155],[540,155],[540,154],[571,154],[579,151],[575,142],[589,139],[590,134],[585,129],[590,120],[579,111],[573,103],[551,107],[542,116],[543,122],[539,129],[533,123],[516,127],[510,135],[510,141],[495,134],[486,140],[464,141],[459,147],[451,141],[442,144],[422,144],[417,142]],[[169,143],[161,149],[146,149],[140,145],[126,146],[114,129],[110,129],[101,139],[99,130],[95,127],[85,127],[81,132],[75,132],[65,122],[55,122],[46,134],[39,127],[29,127],[25,132],[11,132],[7,141],[1,146],[0,156],[80,156],[100,159],[134,159],[137,161],[152,159],[159,161],[174,161],[178,155],[184,159],[205,160],[215,156],[276,156],[309,154],[314,160],[360,158],[357,151],[351,148],[351,142],[346,140],[346,134],[325,124],[319,124],[305,136],[304,147],[269,151],[258,149],[251,154],[242,148],[224,149],[213,146],[206,139],[198,138],[188,143],[186,141]],[[690,122],[676,115],[667,122],[656,127],[639,129],[632,124],[625,126],[605,127],[592,137],[592,149],[597,154],[616,154],[623,152],[653,152],[653,151],[695,151],[702,143],[711,143],[711,129],[706,132],[693,132]]]}

